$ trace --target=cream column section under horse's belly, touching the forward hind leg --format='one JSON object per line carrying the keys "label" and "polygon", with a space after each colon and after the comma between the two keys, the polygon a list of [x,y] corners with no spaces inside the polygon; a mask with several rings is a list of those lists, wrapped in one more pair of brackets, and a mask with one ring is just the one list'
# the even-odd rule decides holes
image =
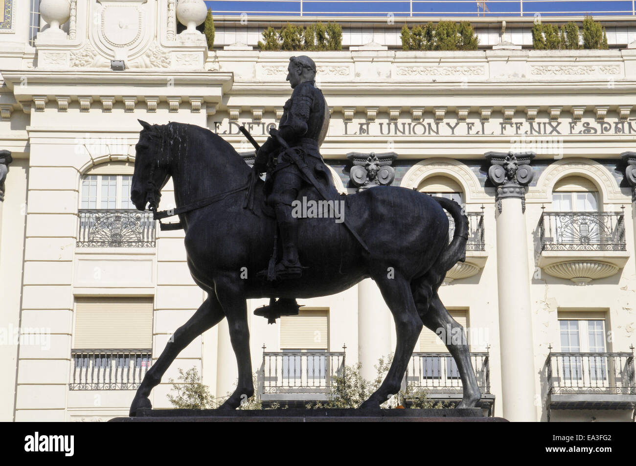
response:
{"label": "cream column section under horse's belly, touching the forward hind leg", "polygon": [[391,348],[391,311],[371,278],[358,284],[358,360],[366,380],[376,376],[375,365]]}

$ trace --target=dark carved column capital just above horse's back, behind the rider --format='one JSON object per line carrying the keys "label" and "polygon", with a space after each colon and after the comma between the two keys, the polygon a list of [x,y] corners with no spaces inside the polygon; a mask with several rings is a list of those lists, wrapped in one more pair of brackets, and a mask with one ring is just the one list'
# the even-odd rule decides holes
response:
{"label": "dark carved column capital just above horse's back, behind the rider", "polygon": [[373,186],[388,186],[396,177],[396,171],[391,167],[392,161],[397,158],[394,152],[383,154],[351,152],[347,154],[347,158],[354,163],[349,177],[357,187],[357,191],[373,188]]}

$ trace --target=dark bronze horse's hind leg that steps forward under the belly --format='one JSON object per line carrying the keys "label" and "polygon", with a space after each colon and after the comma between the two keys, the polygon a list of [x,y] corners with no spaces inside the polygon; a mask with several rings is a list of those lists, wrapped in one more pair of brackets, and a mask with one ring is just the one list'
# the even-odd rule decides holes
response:
{"label": "dark bronze horse's hind leg that steps forward under the belly", "polygon": [[399,391],[408,360],[413,353],[415,342],[422,331],[422,320],[417,315],[417,308],[411,294],[408,282],[397,275],[395,278],[373,277],[380,287],[382,297],[386,301],[396,323],[396,352],[389,368],[389,373],[367,401],[361,404],[361,409],[377,409]]}

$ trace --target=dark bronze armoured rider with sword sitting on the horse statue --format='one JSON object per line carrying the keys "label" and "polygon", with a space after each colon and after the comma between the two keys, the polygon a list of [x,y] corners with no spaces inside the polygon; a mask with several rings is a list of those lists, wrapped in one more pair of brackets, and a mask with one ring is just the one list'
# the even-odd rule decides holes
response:
{"label": "dark bronze armoured rider with sword sitting on the horse statue", "polygon": [[[315,86],[316,65],[303,55],[289,58],[287,81],[294,90],[283,107],[279,130],[272,134],[256,153],[254,171],[268,172],[265,184],[267,203],[272,206],[282,240],[282,259],[275,266],[275,278],[300,278],[302,266],[298,258],[298,219],[292,214],[292,203],[313,177],[333,196],[337,196],[329,170],[319,147],[329,127],[329,109],[321,90]],[[282,141],[280,140],[282,139]],[[284,150],[283,143],[298,156],[296,160]],[[302,167],[306,165],[303,173]]]}

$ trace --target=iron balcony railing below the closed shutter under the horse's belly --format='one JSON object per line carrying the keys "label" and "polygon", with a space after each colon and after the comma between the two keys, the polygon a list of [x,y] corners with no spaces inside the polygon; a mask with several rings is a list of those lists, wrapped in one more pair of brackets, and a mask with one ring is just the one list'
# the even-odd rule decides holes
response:
{"label": "iron balcony railing below the closed shutter under the horse's belly", "polygon": [[261,394],[328,394],[344,371],[344,352],[263,352]]}

